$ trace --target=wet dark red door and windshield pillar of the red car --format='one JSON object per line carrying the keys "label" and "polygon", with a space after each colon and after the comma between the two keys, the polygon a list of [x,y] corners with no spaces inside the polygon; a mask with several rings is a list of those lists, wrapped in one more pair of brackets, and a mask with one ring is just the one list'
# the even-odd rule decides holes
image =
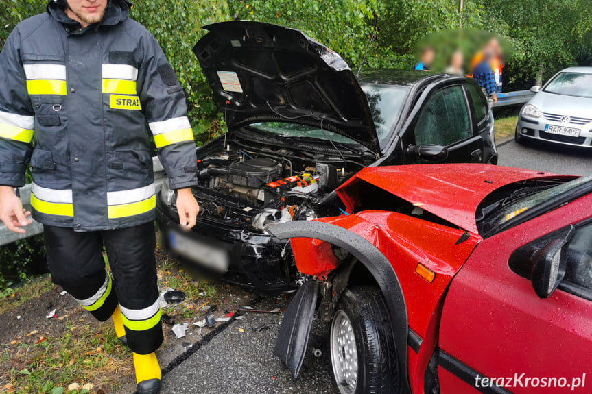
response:
{"label": "wet dark red door and windshield pillar of the red car", "polygon": [[[531,282],[508,267],[514,250],[591,217],[591,207],[588,195],[482,241],[447,293],[440,348],[490,378],[525,373],[571,382],[587,373],[592,384],[592,302],[561,290],[539,299]],[[442,394],[474,392],[467,387],[442,373]],[[510,388],[524,394],[557,390]]]}

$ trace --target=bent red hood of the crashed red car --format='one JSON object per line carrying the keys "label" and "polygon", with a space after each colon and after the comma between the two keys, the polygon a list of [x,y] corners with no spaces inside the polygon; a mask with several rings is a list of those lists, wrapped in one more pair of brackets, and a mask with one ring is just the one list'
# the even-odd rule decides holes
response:
{"label": "bent red hood of the crashed red car", "polygon": [[[346,206],[351,205],[348,187],[364,180],[405,201],[421,206],[453,225],[478,234],[477,206],[494,190],[535,178],[557,177],[544,173],[490,164],[425,164],[367,167],[338,188]],[[353,206],[348,206],[353,210]]]}

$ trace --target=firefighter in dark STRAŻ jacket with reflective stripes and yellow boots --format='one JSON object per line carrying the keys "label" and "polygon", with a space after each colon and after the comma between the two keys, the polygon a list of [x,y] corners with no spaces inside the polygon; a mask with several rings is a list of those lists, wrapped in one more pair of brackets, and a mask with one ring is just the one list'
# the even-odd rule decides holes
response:
{"label": "firefighter in dark STRA\u017b jacket with reflective stripes and yellow boots", "polygon": [[[124,0],[51,0],[0,53],[0,219],[43,223],[51,279],[115,323],[141,394],[158,393],[163,341],[154,256],[150,136],[180,227],[195,225],[196,145],[185,95],[161,47]],[[32,212],[14,188],[32,167]],[[105,247],[112,275],[106,272]]]}

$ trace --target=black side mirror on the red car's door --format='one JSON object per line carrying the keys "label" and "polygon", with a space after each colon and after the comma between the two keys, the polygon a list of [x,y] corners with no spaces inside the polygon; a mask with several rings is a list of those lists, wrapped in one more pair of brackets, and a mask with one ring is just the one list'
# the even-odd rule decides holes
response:
{"label": "black side mirror on the red car's door", "polygon": [[532,287],[540,298],[549,298],[565,276],[567,258],[563,245],[565,239],[554,239],[531,256]]}

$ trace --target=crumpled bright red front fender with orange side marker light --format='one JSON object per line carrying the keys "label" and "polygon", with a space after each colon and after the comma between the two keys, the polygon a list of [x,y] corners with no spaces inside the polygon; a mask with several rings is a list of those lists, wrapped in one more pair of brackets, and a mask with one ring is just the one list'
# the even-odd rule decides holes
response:
{"label": "crumpled bright red front fender with orange side marker light", "polygon": [[[456,245],[464,230],[396,212],[364,211],[319,220],[363,236],[391,262],[405,295],[409,326],[424,339],[420,354],[412,350],[409,354],[410,382],[423,390],[423,373],[436,345],[442,293],[481,238],[471,235]],[[323,277],[338,264],[327,243],[310,238],[292,238],[291,242],[302,273]],[[420,262],[436,273],[434,282],[415,272]]]}

